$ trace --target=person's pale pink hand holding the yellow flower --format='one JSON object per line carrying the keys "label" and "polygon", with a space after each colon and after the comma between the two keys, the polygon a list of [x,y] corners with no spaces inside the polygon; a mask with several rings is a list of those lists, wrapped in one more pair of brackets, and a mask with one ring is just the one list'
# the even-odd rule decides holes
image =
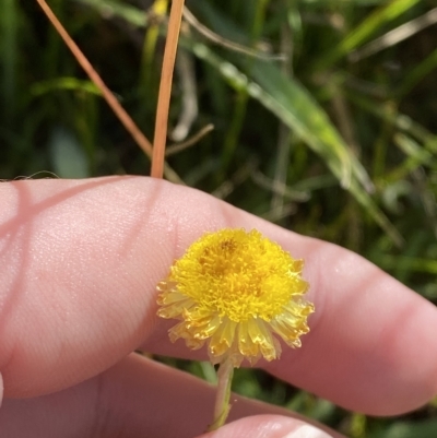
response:
{"label": "person's pale pink hand holding the yellow flower", "polygon": [[[131,352],[206,359],[169,342],[156,284],[224,227],[257,228],[306,262],[311,331],[260,363],[268,372],[370,415],[437,393],[435,307],[351,251],[142,177],[3,182],[0,204],[0,437],[202,435],[214,389]],[[209,437],[283,437],[296,418],[241,399]]]}

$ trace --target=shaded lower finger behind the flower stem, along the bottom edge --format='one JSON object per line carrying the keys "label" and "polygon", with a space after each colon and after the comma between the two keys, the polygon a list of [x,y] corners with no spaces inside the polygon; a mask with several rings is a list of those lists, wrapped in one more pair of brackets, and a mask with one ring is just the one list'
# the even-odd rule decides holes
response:
{"label": "shaded lower finger behind the flower stem, along the bottom edge", "polygon": [[[191,438],[203,435],[211,423],[214,396],[215,388],[204,381],[130,355],[75,388],[36,399],[7,399],[0,424],[2,434],[14,438]],[[233,398],[229,422],[249,415],[263,416],[225,429],[233,434],[229,436],[246,430],[248,435],[239,436],[256,437],[252,433],[260,435],[262,429],[269,436],[304,425],[303,418],[290,411]],[[316,423],[312,426],[328,431]],[[334,431],[329,434],[341,438]]]}

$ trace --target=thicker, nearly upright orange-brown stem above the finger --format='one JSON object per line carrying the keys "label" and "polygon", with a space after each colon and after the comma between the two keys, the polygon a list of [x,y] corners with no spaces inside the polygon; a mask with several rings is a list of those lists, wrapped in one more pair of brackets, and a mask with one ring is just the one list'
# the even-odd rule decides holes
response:
{"label": "thicker, nearly upright orange-brown stem above the finger", "polygon": [[152,173],[154,178],[162,178],[164,171],[165,144],[167,139],[168,110],[170,106],[173,72],[185,0],[173,0],[165,43],[163,70],[161,73],[160,95],[157,99],[155,137],[153,140]]}

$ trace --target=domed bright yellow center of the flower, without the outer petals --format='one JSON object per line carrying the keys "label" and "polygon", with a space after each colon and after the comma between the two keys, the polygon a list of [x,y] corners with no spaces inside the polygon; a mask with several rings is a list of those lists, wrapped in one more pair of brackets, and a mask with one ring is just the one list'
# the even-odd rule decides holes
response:
{"label": "domed bright yellow center of the flower, without the outer petals", "polygon": [[226,229],[204,236],[175,264],[178,291],[235,322],[270,321],[305,293],[300,261],[260,233]]}

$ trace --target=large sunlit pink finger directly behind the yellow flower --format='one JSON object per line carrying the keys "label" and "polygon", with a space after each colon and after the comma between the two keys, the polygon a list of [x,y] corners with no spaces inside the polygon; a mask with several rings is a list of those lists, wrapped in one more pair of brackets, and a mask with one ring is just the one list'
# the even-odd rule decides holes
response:
{"label": "large sunlit pink finger directly behind the yellow flower", "polygon": [[0,188],[7,206],[0,212],[7,394],[66,388],[145,339],[153,351],[187,355],[181,342],[168,343],[172,322],[154,316],[155,285],[201,234],[229,226],[258,228],[306,259],[317,308],[312,332],[300,351],[286,350],[272,363],[272,372],[374,414],[416,407],[436,392],[435,309],[349,251],[163,181],[22,181]]}

